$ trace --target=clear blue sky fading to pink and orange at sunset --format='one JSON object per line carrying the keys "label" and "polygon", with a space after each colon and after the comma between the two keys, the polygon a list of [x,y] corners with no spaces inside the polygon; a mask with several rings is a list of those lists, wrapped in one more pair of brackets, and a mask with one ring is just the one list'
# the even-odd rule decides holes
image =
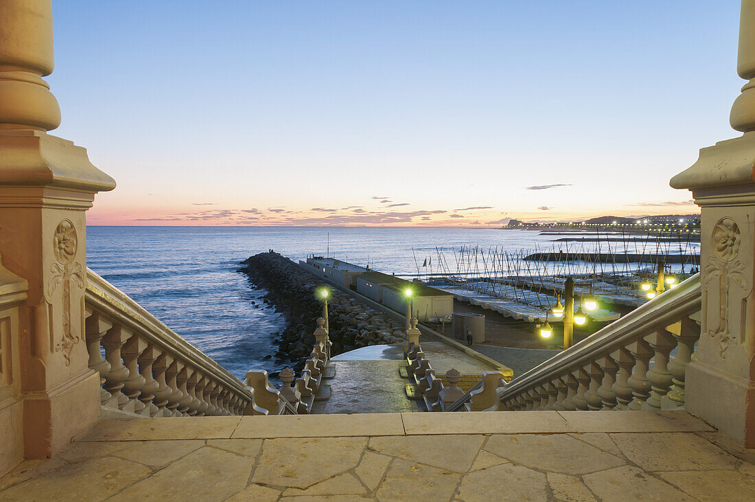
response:
{"label": "clear blue sky fading to pink and orange at sunset", "polygon": [[698,212],[739,2],[55,0],[90,225],[498,226]]}

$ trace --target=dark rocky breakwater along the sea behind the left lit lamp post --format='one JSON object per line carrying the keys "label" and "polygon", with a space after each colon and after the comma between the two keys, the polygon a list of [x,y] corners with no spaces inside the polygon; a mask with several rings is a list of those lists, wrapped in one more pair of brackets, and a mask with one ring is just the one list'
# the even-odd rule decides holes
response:
{"label": "dark rocky breakwater along the sea behind the left lit lamp post", "polygon": [[[304,366],[315,343],[313,331],[322,315],[322,303],[316,289],[325,285],[316,276],[278,253],[260,253],[242,262],[252,284],[265,288],[265,297],[286,317],[287,327],[276,333],[278,362],[291,360],[297,371]],[[335,288],[328,297],[331,356],[368,345],[400,343],[403,325],[395,319],[371,309],[364,303]]]}

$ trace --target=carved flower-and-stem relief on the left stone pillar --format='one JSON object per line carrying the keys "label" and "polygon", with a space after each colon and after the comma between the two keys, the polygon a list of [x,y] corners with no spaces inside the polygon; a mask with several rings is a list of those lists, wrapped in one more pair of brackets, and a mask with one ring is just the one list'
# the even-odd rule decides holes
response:
{"label": "carved flower-and-stem relief on the left stone pillar", "polygon": [[66,365],[71,364],[73,346],[79,343],[79,336],[74,335],[71,326],[71,285],[84,288],[86,276],[81,263],[76,261],[79,242],[76,228],[71,220],[58,223],[53,236],[53,251],[57,263],[51,266],[52,278],[48,283],[48,295],[63,287],[63,338],[55,344],[54,350],[62,352]]}

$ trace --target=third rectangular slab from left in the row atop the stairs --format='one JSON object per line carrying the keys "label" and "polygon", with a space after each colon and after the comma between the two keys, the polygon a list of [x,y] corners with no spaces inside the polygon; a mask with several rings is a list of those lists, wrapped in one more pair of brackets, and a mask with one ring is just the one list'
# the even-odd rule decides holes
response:
{"label": "third rectangular slab from left in the row atop the stairs", "polygon": [[402,413],[407,434],[575,433],[557,411]]}

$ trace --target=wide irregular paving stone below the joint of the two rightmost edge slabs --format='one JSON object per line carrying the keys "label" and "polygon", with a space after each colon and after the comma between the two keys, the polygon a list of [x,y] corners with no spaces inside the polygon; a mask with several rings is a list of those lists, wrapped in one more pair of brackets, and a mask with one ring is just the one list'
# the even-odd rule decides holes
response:
{"label": "wide irregular paving stone below the joint of the two rightmost edge slabs", "polygon": [[491,436],[485,450],[516,464],[564,474],[592,473],[625,464],[621,458],[566,434]]}

